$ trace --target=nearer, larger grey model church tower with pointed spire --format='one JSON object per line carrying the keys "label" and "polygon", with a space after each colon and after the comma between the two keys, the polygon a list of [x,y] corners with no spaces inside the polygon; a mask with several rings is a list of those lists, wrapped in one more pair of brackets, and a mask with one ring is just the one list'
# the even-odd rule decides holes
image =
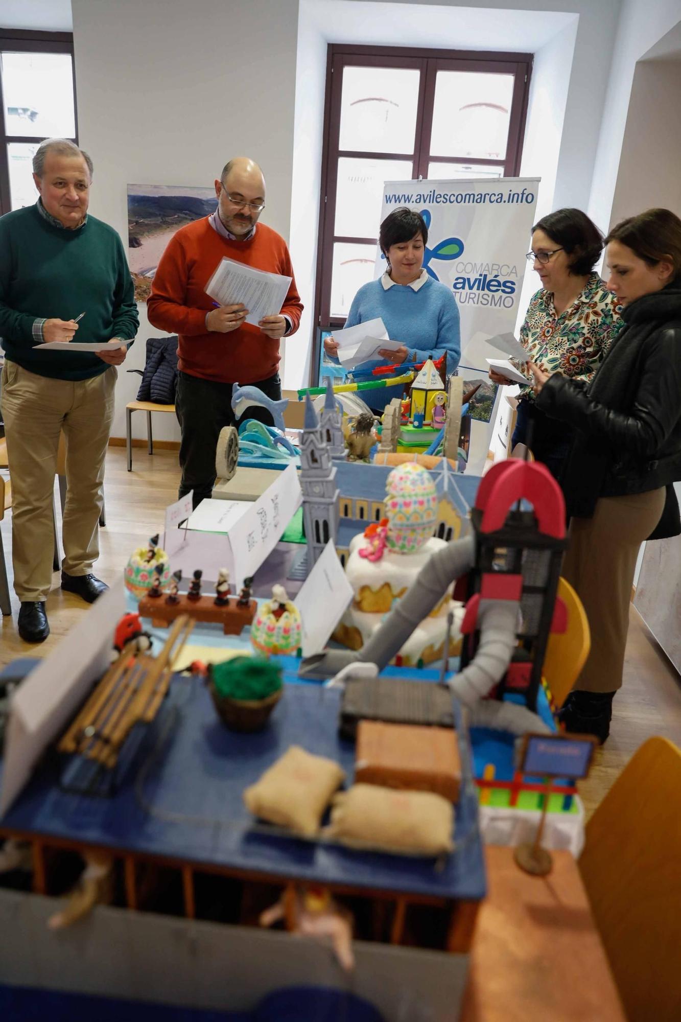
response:
{"label": "nearer, larger grey model church tower with pointed spire", "polygon": [[[329,426],[330,429],[330,426]],[[338,497],[335,466],[310,394],[305,399],[305,423],[301,435],[301,490],[303,520],[308,547],[308,571],[329,540],[338,532]]]}

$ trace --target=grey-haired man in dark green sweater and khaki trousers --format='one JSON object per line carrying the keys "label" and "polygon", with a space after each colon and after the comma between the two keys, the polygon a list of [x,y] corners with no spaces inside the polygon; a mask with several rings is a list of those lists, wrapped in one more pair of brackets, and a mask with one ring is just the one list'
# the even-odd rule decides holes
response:
{"label": "grey-haired man in dark green sweater and khaki trousers", "polygon": [[126,347],[98,354],[41,349],[50,341],[132,342],[139,319],[119,235],[88,216],[92,160],[49,139],[33,158],[40,198],[0,218],[2,411],[12,480],[12,562],[27,642],[49,635],[52,493],[59,433],[66,440],[61,589],[92,603],[106,586],[99,555],[104,456],[117,366]]}

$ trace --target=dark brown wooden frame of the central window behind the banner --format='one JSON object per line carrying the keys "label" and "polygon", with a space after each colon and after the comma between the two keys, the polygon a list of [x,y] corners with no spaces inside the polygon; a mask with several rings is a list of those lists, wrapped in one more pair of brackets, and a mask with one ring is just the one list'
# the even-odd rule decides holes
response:
{"label": "dark brown wooden frame of the central window behind the banner", "polygon": [[[330,315],[331,271],[333,243],[377,243],[377,238],[340,237],[334,234],[335,192],[338,159],[355,157],[364,159],[412,159],[413,179],[427,177],[428,164],[499,167],[503,165],[504,177],[517,177],[523,155],[523,137],[528,112],[532,53],[494,53],[478,50],[430,50],[397,46],[351,46],[330,43],[326,57],[326,98],[324,103],[324,145],[321,164],[321,195],[319,205],[319,233],[317,245],[317,276],[315,289],[315,336],[311,359],[314,380],[319,366],[321,330],[342,326],[344,317]],[[416,114],[414,151],[409,153],[360,152],[339,149],[340,98],[343,71],[347,66],[404,67],[421,72]],[[514,76],[511,112],[508,125],[508,143],[505,159],[485,159],[473,156],[439,156],[428,150],[433,128],[433,108],[436,78],[439,71],[495,72]],[[377,226],[377,225],[376,225]]]}

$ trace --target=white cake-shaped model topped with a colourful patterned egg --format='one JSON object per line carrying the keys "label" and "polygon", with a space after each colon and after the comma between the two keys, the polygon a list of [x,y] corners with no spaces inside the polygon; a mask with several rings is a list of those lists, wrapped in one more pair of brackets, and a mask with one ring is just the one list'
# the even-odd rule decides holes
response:
{"label": "white cake-shaped model topped with a colourful patterned egg", "polygon": [[[334,632],[337,642],[361,650],[430,557],[447,548],[445,540],[433,536],[438,504],[436,483],[427,469],[408,463],[390,473],[385,519],[370,524],[350,544],[346,574],[355,598]],[[456,609],[450,593],[443,593],[391,660],[411,666],[449,655],[444,648],[447,616]],[[449,652],[454,648],[450,647]]]}

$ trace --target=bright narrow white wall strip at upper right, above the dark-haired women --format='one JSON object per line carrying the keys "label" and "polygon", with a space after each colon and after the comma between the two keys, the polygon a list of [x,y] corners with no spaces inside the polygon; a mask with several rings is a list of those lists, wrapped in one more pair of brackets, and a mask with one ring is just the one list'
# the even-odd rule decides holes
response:
{"label": "bright narrow white wall strip at upper right, above the dark-haired women", "polygon": [[622,4],[588,207],[597,224],[612,223],[612,199],[636,61],[680,19],[679,0],[624,0]]}

